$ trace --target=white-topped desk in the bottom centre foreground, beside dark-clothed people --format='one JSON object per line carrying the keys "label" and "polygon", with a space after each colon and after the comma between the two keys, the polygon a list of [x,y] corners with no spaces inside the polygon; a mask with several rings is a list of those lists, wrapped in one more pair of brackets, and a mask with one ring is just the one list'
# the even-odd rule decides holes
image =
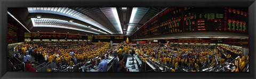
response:
{"label": "white-topped desk in the bottom centre foreground, beside dark-clothed people", "polygon": [[[137,64],[136,60],[134,60],[135,69],[132,69],[133,65],[129,65],[129,62],[132,62],[132,61],[129,60],[131,58],[132,57],[127,57],[126,67],[129,68],[129,72],[139,72],[139,67],[138,67],[138,64]],[[135,59],[135,57],[133,57],[133,58]]]}

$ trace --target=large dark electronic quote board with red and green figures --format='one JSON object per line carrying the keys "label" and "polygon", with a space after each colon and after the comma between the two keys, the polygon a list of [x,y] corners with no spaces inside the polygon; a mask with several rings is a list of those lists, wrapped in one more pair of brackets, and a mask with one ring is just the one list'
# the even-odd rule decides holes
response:
{"label": "large dark electronic quote board with red and green figures", "polygon": [[133,33],[133,39],[193,31],[227,31],[248,34],[248,8],[171,7]]}

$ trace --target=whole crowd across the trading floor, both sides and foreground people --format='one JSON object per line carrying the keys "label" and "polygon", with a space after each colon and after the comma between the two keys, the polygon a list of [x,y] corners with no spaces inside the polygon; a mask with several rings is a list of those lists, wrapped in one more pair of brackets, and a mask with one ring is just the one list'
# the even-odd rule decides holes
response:
{"label": "whole crowd across the trading floor, both sides and foreground people", "polygon": [[[151,60],[159,62],[162,65],[172,68],[172,72],[178,70],[178,68],[187,68],[191,72],[199,71],[202,67],[214,68],[218,65],[222,65],[231,59],[231,55],[225,55],[227,59],[223,58],[221,52],[217,48],[212,49],[195,49],[189,47],[171,47],[171,46],[155,46],[147,47],[143,46],[140,48],[134,48],[127,45],[125,42],[121,42],[119,45],[109,48],[108,42],[98,42],[95,45],[77,47],[77,48],[43,48],[36,44],[23,43],[21,45],[14,46],[14,51],[17,52],[14,56],[17,58],[23,58],[23,62],[26,64],[26,71],[34,71],[34,65],[31,64],[31,56],[35,58],[38,63],[52,63],[56,62],[57,65],[74,65],[77,63],[91,60],[95,57],[100,57],[101,62],[98,65],[99,72],[107,72],[107,62],[105,60],[105,54],[113,54],[116,56],[112,63],[114,72],[127,72],[128,69],[125,67],[127,56],[132,56],[135,52],[143,58],[143,55],[148,56]],[[241,51],[236,49],[230,49],[234,52]],[[221,50],[223,51],[223,49]],[[30,56],[31,55],[31,56]],[[224,56],[224,57],[225,57]],[[234,66],[235,72],[241,71],[245,64],[248,63],[249,56],[247,59],[241,55],[236,58],[236,65]],[[229,61],[230,62],[230,61]],[[242,70],[244,71],[244,69]]]}

